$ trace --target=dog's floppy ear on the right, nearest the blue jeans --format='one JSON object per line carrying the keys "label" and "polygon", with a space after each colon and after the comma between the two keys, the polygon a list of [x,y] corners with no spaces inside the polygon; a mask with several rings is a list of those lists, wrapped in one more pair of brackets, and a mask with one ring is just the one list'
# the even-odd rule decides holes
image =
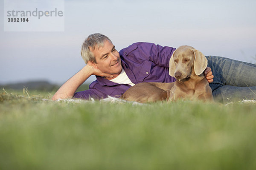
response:
{"label": "dog's floppy ear on the right, nearest the blue jeans", "polygon": [[195,55],[195,60],[194,60],[194,71],[195,74],[198,76],[204,72],[204,70],[207,68],[207,58],[204,56],[203,53],[196,49],[192,49]]}

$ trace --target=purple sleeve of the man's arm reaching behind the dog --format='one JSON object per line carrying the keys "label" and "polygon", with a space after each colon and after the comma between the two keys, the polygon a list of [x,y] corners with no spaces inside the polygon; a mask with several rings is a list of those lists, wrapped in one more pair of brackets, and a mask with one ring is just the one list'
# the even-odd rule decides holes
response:
{"label": "purple sleeve of the man's arm reaching behind the dog", "polygon": [[169,60],[175,48],[168,46],[155,45],[154,43],[139,42],[138,50],[141,56],[154,64],[169,68]]}

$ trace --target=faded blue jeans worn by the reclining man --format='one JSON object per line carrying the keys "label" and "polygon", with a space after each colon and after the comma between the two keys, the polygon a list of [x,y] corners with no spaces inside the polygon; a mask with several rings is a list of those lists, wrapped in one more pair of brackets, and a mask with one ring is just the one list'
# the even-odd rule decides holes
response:
{"label": "faded blue jeans worn by the reclining man", "polygon": [[216,102],[256,99],[256,65],[224,57],[206,58],[214,75],[209,85]]}

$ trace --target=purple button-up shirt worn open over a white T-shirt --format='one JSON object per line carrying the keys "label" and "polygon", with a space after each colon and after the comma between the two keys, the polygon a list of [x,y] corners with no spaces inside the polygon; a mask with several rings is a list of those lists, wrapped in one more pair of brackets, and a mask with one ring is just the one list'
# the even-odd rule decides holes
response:
{"label": "purple button-up shirt worn open over a white T-shirt", "polygon": [[[134,84],[140,82],[175,82],[169,75],[169,59],[175,48],[163,47],[148,42],[137,42],[119,51],[122,68]],[[97,80],[86,91],[75,93],[74,98],[102,99],[109,96],[120,97],[131,85],[117,84],[96,76]]]}

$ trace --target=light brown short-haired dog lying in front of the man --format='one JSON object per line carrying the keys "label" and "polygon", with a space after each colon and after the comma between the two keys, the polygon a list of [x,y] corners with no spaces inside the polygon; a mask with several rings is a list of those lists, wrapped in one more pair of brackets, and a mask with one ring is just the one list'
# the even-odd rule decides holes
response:
{"label": "light brown short-haired dog lying in front of the man", "polygon": [[195,48],[183,45],[177,48],[169,61],[169,75],[175,82],[143,82],[129,88],[121,99],[136,102],[168,102],[177,99],[213,101],[212,90],[204,70],[207,58]]}

